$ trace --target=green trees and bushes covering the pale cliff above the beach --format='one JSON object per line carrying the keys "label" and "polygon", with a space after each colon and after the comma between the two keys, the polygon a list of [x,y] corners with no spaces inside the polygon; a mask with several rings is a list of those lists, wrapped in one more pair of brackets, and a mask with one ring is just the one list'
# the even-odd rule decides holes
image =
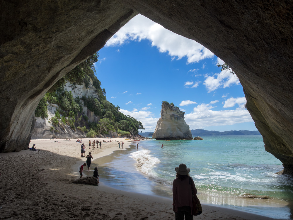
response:
{"label": "green trees and bushes covering the pale cliff above the beach", "polygon": [[[124,115],[119,111],[119,106],[115,106],[107,100],[106,91],[101,88],[101,82],[95,75],[94,64],[98,61],[98,57],[99,54],[95,53],[76,66],[59,79],[39,102],[35,116],[42,119],[48,117],[47,102],[58,105],[55,116],[49,119],[52,131],[56,130],[54,127],[57,126],[64,129],[64,125],[67,124],[72,130],[79,129],[87,132],[87,136],[92,137],[108,134],[109,131],[117,131],[120,136],[133,136],[138,133],[138,130],[144,129],[140,121]],[[92,96],[74,98],[71,92],[64,89],[67,82],[73,85],[84,83],[88,88],[91,80],[96,88],[98,99]],[[98,123],[88,121],[88,117],[82,112],[83,105],[100,118]]]}

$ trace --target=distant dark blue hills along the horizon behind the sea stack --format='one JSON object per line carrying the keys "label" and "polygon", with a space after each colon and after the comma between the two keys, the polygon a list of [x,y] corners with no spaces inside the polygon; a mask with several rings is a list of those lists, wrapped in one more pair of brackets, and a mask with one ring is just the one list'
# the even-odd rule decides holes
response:
{"label": "distant dark blue hills along the horizon behind the sea stack", "polygon": [[[139,132],[141,136],[149,136],[149,133],[154,133],[153,131]],[[192,136],[212,136],[212,135],[260,135],[259,131],[207,131],[203,129],[193,129],[191,130]]]}

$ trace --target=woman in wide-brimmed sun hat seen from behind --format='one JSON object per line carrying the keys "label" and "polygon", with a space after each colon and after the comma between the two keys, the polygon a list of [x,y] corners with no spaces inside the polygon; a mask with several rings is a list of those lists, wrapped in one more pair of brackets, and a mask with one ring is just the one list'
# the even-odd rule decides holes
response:
{"label": "woman in wide-brimmed sun hat seen from behind", "polygon": [[179,167],[175,168],[176,179],[173,181],[173,211],[175,212],[176,220],[193,219],[191,213],[192,207],[192,192],[196,194],[193,179],[189,177],[190,169],[184,163],[180,163]]}

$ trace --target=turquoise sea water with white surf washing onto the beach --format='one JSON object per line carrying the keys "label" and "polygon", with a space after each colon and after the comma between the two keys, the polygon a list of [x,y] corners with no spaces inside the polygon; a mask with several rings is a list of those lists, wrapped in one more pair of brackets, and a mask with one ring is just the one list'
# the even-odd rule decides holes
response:
{"label": "turquoise sea water with white surf washing onto the beach", "polygon": [[[260,135],[203,136],[203,141],[139,141],[114,156],[93,161],[106,185],[171,197],[175,167],[190,168],[203,202],[289,219],[293,181],[277,175],[280,160],[264,149]],[[161,148],[161,144],[164,148]],[[243,199],[247,195],[269,199]]]}

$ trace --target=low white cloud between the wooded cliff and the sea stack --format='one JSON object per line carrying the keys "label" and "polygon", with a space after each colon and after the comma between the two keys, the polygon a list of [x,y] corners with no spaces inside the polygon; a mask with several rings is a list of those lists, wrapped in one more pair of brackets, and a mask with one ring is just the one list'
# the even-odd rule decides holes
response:
{"label": "low white cloud between the wooded cliff and the sea stack", "polygon": [[151,111],[128,111],[120,109],[120,112],[134,117],[137,121],[141,121],[142,126],[145,128],[144,131],[155,131],[159,118],[153,118],[153,113]]}

